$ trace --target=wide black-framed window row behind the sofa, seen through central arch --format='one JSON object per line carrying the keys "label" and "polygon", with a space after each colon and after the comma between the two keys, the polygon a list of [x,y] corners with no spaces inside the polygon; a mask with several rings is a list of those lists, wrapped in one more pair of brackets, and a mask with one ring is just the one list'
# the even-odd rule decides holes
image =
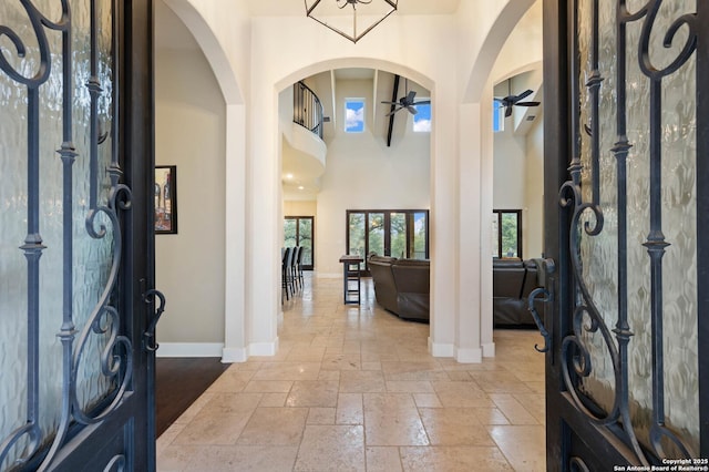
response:
{"label": "wide black-framed window row behind the sofa, seen through central arch", "polygon": [[347,254],[429,258],[428,209],[347,211]]}

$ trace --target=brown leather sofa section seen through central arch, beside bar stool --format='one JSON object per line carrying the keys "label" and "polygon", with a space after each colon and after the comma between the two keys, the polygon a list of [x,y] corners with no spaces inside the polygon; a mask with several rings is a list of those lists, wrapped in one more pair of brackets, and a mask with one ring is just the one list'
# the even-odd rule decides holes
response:
{"label": "brown leather sofa section seen through central arch, beside bar stool", "polygon": [[429,322],[431,263],[370,256],[367,260],[377,302],[405,320]]}

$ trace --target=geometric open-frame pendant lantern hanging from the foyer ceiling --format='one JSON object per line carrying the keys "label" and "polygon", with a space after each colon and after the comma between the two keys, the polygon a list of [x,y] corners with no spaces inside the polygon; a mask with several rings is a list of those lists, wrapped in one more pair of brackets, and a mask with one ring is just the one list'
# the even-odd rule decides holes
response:
{"label": "geometric open-frame pendant lantern hanging from the foyer ceiling", "polygon": [[[357,43],[397,11],[399,0],[305,0],[306,14]],[[349,9],[347,7],[351,6]],[[351,18],[350,18],[351,17]]]}

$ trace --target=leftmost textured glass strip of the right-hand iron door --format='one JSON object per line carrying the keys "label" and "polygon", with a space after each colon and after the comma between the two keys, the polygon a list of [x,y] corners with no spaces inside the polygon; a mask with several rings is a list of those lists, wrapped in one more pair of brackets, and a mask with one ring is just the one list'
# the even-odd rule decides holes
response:
{"label": "leftmost textured glass strip of the right-hand iron door", "polygon": [[[582,281],[586,285],[598,314],[607,326],[613,327],[618,316],[617,306],[617,204],[615,160],[610,153],[615,142],[615,62],[598,61],[597,73],[603,79],[598,89],[598,105],[600,115],[598,123],[593,122],[593,95],[588,82],[594,74],[593,41],[597,41],[599,57],[608,57],[608,51],[615,50],[614,0],[598,2],[598,37],[594,33],[593,0],[582,0],[579,3],[579,52],[580,52],[580,126],[597,135],[600,152],[593,155],[593,140],[595,136],[587,132],[580,133],[580,161],[583,164],[582,188],[584,202],[598,198],[604,216],[603,232],[597,236],[589,236],[580,229],[580,260],[583,261]],[[599,161],[600,175],[599,194],[594,196],[593,168],[594,158]],[[596,215],[586,211],[580,218],[580,226],[595,228]],[[613,406],[615,394],[613,362],[608,355],[608,347],[600,332],[584,331],[585,346],[589,350],[592,373],[584,379],[583,388],[593,399],[608,410]]]}

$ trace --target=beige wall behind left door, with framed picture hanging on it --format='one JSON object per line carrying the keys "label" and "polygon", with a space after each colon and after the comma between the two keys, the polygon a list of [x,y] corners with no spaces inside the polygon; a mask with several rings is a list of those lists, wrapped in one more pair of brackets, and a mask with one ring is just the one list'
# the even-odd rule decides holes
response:
{"label": "beige wall behind left door, with framed picture hanging on it", "polygon": [[226,109],[199,51],[158,51],[155,84],[155,161],[177,166],[178,233],[155,236],[165,352],[171,342],[224,342]]}

